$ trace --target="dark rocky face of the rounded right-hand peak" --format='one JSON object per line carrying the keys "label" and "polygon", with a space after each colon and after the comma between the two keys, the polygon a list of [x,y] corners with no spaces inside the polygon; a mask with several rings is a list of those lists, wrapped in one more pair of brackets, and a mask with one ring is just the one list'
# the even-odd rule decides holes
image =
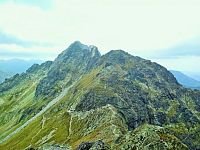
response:
{"label": "dark rocky face of the rounded right-hand peak", "polygon": [[[182,105],[186,91],[164,67],[121,50],[109,52],[98,63],[103,66],[97,77],[100,90],[94,87],[82,96],[77,111],[110,104],[124,116],[132,130],[144,123],[160,126],[177,123],[177,117],[168,114],[172,103],[176,103],[179,119],[187,123],[190,118],[194,124],[200,123],[191,110]],[[194,101],[197,104],[198,98]]]}

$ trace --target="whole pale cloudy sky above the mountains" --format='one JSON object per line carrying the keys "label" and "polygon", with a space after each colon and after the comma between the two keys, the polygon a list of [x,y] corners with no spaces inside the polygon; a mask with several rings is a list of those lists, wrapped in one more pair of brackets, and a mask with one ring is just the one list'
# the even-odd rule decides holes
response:
{"label": "whole pale cloudy sky above the mountains", "polygon": [[199,0],[0,0],[0,59],[53,60],[72,42],[200,73]]}

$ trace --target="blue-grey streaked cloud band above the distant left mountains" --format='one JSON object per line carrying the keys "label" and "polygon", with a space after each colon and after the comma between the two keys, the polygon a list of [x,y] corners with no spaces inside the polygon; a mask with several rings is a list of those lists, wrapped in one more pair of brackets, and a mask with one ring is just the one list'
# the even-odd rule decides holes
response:
{"label": "blue-grey streaked cloud band above the distant left mountains", "polygon": [[0,32],[0,59],[42,59],[56,57],[58,47],[48,43],[27,41]]}

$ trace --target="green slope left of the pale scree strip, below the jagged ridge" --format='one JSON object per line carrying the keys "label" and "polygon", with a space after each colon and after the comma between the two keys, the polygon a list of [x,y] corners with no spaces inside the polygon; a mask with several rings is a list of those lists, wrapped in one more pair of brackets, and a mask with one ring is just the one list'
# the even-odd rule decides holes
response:
{"label": "green slope left of the pale scree strip, below the jagged ridge", "polygon": [[[23,76],[23,78],[21,77]],[[14,83],[0,93],[0,140],[33,117],[48,101],[36,101],[35,90],[44,71],[23,74],[2,83],[1,88]]]}

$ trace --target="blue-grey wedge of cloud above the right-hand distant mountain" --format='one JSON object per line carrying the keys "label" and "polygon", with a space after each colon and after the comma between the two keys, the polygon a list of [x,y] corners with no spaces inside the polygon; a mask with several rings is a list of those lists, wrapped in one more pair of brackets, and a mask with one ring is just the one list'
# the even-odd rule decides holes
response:
{"label": "blue-grey wedge of cloud above the right-hand distant mountain", "polygon": [[195,37],[183,41],[175,46],[158,50],[148,55],[148,58],[170,70],[179,70],[185,73],[200,74],[200,38]]}

